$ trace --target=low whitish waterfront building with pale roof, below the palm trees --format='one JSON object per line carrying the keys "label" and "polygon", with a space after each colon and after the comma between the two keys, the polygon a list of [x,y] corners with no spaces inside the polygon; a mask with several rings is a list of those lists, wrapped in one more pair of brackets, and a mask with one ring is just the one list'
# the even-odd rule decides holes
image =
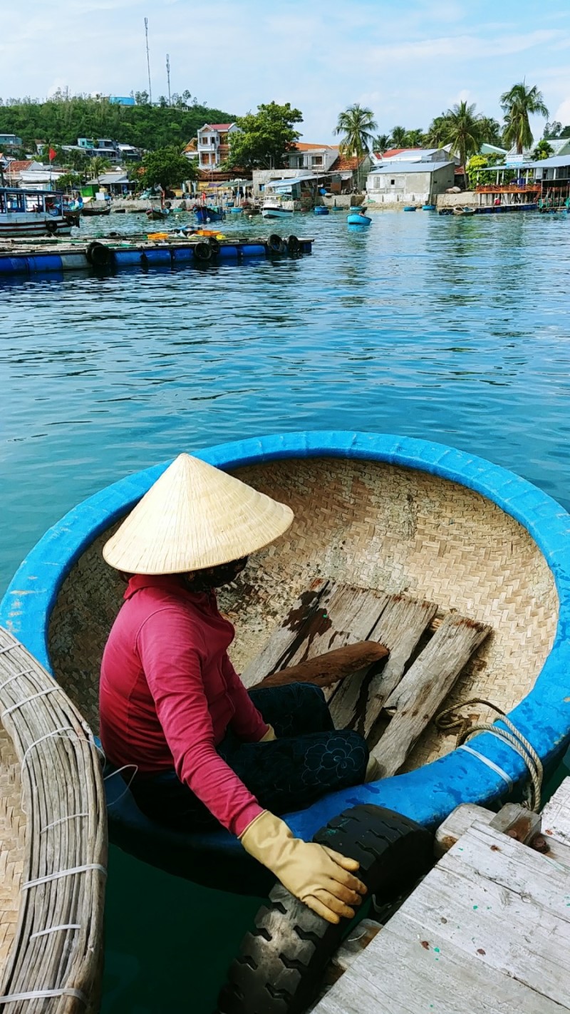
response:
{"label": "low whitish waterfront building with pale roof, below the palm trees", "polygon": [[433,204],[454,186],[455,170],[455,162],[388,159],[369,172],[367,197],[372,204]]}

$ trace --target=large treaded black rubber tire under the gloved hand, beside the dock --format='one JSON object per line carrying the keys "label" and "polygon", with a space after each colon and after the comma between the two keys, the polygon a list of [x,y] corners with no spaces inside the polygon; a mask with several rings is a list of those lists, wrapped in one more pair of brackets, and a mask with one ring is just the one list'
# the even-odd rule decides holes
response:
{"label": "large treaded black rubber tire under the gloved hand, beside the dock", "polygon": [[[433,862],[430,832],[380,806],[345,810],[314,841],[357,859],[358,876],[382,900],[411,887]],[[230,965],[218,1014],[302,1014],[347,925],[327,923],[277,884]]]}

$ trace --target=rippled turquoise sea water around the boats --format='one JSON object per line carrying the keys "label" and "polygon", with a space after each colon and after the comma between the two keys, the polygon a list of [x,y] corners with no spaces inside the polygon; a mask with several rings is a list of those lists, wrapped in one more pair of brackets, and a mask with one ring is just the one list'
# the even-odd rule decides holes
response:
{"label": "rippled turquoise sea water around the boats", "polygon": [[[284,227],[314,252],[0,284],[0,593],[101,486],[262,433],[431,438],[570,508],[567,216],[232,218],[226,234]],[[83,232],[146,225],[100,223]],[[256,904],[111,850],[103,1014],[210,1014]]]}

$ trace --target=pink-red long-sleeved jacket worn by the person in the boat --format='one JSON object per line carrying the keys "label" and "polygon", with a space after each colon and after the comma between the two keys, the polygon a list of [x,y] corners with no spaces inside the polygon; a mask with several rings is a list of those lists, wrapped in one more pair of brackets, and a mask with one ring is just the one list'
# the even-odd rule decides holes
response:
{"label": "pink-red long-sleeved jacket worn by the person in the boat", "polygon": [[267,725],[227,649],[234,628],[214,594],[176,575],[131,578],[101,663],[100,734],[114,765],[174,768],[220,823],[241,835],[261,807],[216,746],[231,727],[258,742]]}

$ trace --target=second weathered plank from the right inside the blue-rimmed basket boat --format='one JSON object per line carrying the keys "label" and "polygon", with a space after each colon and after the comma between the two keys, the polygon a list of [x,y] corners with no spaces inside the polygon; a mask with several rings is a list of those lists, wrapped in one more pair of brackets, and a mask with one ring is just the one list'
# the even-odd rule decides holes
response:
{"label": "second weathered plank from the right inside the blue-rimmed basket boat", "polygon": [[337,686],[329,704],[337,729],[355,729],[365,738],[371,735],[385,702],[400,682],[406,663],[436,611],[435,602],[402,595],[387,597],[370,640],[386,645],[390,657],[384,666],[375,665],[354,673]]}

